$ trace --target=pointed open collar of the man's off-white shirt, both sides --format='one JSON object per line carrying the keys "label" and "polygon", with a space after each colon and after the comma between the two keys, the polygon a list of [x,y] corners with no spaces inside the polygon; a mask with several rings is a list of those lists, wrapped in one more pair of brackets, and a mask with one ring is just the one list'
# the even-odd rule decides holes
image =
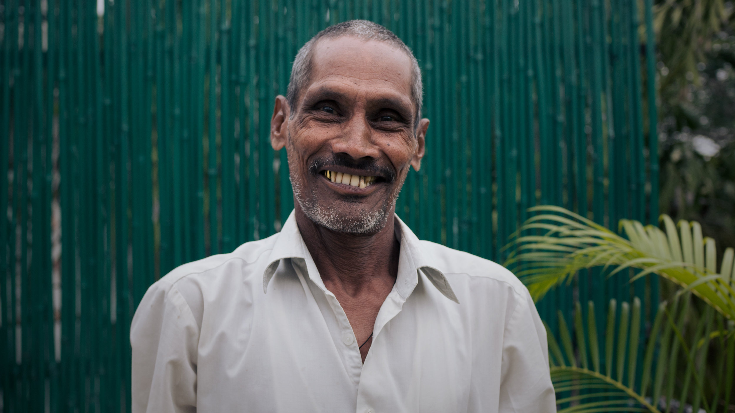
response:
{"label": "pointed open collar of the man's off-white shirt, both sides", "polygon": [[[454,291],[449,285],[447,277],[440,270],[439,265],[431,259],[429,254],[423,251],[422,245],[416,237],[416,234],[409,229],[398,215],[395,216],[395,222],[398,223],[395,226],[395,235],[398,237],[398,241],[401,243],[401,254],[399,256],[399,276],[396,279],[395,290],[401,297],[408,298],[413,291],[414,287],[418,282],[417,270],[421,270],[426,274],[426,278],[434,284],[446,298],[459,304]],[[308,259],[307,259],[308,257]],[[273,249],[270,251],[270,257],[268,258],[268,266],[265,267],[263,273],[263,292],[268,292],[268,284],[270,279],[273,278],[273,274],[276,273],[279,263],[282,259],[286,258],[301,258],[307,262],[307,267],[312,267],[311,262],[313,259],[309,254],[308,248],[304,243],[304,239],[301,237],[301,232],[298,231],[298,224],[296,223],[295,212],[291,211],[288,219],[283,225],[281,232],[278,234],[276,242],[273,244]],[[406,267],[408,272],[404,272],[402,267]],[[309,268],[309,273],[312,269]],[[406,276],[402,276],[406,274]],[[410,274],[410,275],[408,275]],[[309,274],[309,278],[315,281],[320,287],[323,287],[323,282],[320,277],[314,277],[314,274]]]}

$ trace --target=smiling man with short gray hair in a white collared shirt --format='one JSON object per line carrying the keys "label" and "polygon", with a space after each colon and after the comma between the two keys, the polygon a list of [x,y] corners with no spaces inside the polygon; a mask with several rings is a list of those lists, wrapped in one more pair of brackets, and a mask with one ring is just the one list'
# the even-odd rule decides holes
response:
{"label": "smiling man with short gray hair in a white collared shirt", "polygon": [[369,21],[298,52],[270,137],[282,231],[182,265],[131,328],[133,412],[553,412],[545,329],[505,268],[394,212],[429,120],[410,49]]}

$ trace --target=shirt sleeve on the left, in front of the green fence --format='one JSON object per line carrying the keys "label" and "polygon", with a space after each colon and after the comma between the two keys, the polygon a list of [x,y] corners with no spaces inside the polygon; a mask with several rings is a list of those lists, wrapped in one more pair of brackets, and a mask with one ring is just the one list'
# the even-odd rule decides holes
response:
{"label": "shirt sleeve on the left, in front of the green fence", "polygon": [[148,289],[130,326],[132,413],[196,412],[198,330],[176,287]]}

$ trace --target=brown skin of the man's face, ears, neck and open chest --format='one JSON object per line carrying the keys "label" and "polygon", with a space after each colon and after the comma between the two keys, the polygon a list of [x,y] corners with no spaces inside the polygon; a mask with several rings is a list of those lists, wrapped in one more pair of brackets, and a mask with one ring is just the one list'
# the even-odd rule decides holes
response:
{"label": "brown skin of the man's face, ears, neck and open chest", "polygon": [[[374,40],[337,37],[320,40],[312,54],[309,84],[295,112],[276,97],[270,123],[273,149],[287,148],[289,168],[312,203],[349,219],[356,211],[376,212],[398,194],[409,168],[419,170],[429,120],[415,126],[411,99],[411,60],[400,49]],[[337,184],[309,171],[315,159],[335,155],[355,165],[368,162],[387,173],[327,164],[323,170],[376,176],[365,188]],[[295,217],[301,237],[326,288],[340,302],[354,331],[362,362],[370,350],[376,317],[398,275],[401,248],[395,239],[395,204],[385,225],[366,234],[333,231],[312,221],[298,201]],[[367,342],[366,342],[367,340]]]}

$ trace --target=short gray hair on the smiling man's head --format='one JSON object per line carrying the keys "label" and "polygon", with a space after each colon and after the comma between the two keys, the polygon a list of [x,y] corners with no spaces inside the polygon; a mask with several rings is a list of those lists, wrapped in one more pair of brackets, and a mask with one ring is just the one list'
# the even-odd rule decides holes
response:
{"label": "short gray hair on the smiling man's head", "polygon": [[322,37],[333,39],[336,37],[353,36],[360,40],[377,40],[379,42],[389,43],[401,51],[404,51],[411,58],[412,73],[411,73],[411,99],[416,106],[416,119],[414,125],[418,125],[418,121],[421,118],[421,104],[423,104],[423,85],[421,83],[421,69],[418,67],[416,57],[413,52],[406,46],[400,37],[396,36],[393,32],[386,29],[380,24],[373,23],[368,20],[350,20],[343,21],[342,23],[329,26],[318,32],[314,37],[311,38],[304,46],[301,46],[296,58],[293,61],[293,68],[291,68],[291,79],[288,82],[288,90],[286,93],[286,100],[291,108],[291,113],[295,112],[296,100],[301,94],[301,90],[306,87],[309,83],[309,77],[312,74],[312,50],[314,45]]}

